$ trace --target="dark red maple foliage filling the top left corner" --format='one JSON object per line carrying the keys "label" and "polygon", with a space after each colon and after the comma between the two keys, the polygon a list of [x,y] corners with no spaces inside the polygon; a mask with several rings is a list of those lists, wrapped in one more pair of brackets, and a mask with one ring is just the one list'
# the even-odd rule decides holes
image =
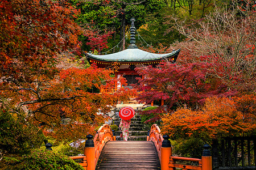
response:
{"label": "dark red maple foliage filling the top left corner", "polygon": [[79,44],[77,12],[65,1],[1,1],[1,80],[18,84],[54,75],[57,54]]}

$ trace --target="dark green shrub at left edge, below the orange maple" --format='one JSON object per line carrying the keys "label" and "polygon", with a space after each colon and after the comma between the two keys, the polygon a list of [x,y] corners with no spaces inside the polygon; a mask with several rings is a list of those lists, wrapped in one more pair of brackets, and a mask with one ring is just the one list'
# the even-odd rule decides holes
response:
{"label": "dark green shrub at left edge, below the orange maple", "polygon": [[44,139],[42,130],[26,122],[22,113],[0,109],[0,156],[29,154],[39,148]]}

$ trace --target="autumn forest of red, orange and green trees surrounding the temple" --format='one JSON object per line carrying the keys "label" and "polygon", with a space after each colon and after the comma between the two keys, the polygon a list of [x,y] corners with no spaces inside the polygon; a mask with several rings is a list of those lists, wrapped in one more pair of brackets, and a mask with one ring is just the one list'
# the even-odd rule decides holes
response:
{"label": "autumn forest of red, orange and green trees surrounding the temple", "polygon": [[[188,148],[214,138],[255,135],[255,8],[253,1],[1,1],[1,165],[31,164],[31,151],[47,139],[85,139],[108,119],[99,109],[133,95],[165,100],[142,115],[161,122],[181,155],[197,156]],[[84,53],[125,49],[132,17],[137,46],[181,48],[177,63],[137,69],[139,95],[100,94],[114,87],[117,68],[89,66]]]}

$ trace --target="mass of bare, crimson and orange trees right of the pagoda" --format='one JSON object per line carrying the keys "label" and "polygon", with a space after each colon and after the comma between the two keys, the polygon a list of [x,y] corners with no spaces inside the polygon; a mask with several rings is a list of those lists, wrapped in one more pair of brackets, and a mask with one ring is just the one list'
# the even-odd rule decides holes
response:
{"label": "mass of bare, crimson and orange trees right of the pagoda", "polygon": [[255,133],[256,6],[251,1],[232,3],[196,22],[168,16],[186,37],[173,44],[181,48],[177,63],[137,69],[142,75],[137,99],[147,104],[164,100],[162,111],[155,110],[158,115],[151,120],[170,113],[162,118],[162,127],[173,139]]}

